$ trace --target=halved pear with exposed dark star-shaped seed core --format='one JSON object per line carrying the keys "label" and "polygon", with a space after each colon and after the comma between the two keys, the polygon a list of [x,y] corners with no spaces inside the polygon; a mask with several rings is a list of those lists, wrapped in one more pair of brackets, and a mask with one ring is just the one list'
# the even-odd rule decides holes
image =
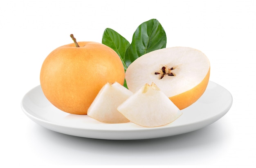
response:
{"label": "halved pear with exposed dark star-shaped seed core", "polygon": [[209,76],[210,63],[204,53],[171,47],[148,52],[133,61],[126,70],[126,83],[136,92],[153,82],[179,109],[184,109],[202,96]]}

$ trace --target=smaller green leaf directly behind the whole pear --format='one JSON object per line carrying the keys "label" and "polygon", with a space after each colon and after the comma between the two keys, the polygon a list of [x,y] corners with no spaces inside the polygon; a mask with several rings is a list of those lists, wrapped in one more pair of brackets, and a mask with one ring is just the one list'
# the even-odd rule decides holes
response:
{"label": "smaller green leaf directly behind the whole pear", "polygon": [[106,28],[103,33],[102,44],[109,46],[110,48],[115,50],[115,52],[117,52],[123,62],[124,69],[126,70],[127,66],[125,64],[124,57],[127,48],[130,46],[129,41],[127,41],[123,36],[112,30],[111,28]]}

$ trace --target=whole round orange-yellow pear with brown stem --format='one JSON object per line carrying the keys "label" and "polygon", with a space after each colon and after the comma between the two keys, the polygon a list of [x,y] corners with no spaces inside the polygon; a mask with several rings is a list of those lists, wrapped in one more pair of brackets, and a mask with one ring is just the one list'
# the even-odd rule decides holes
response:
{"label": "whole round orange-yellow pear with brown stem", "polygon": [[[92,41],[60,46],[49,53],[40,71],[40,85],[52,105],[67,113],[86,115],[107,82],[124,83],[123,63],[115,50]],[[108,74],[108,75],[106,75]]]}

